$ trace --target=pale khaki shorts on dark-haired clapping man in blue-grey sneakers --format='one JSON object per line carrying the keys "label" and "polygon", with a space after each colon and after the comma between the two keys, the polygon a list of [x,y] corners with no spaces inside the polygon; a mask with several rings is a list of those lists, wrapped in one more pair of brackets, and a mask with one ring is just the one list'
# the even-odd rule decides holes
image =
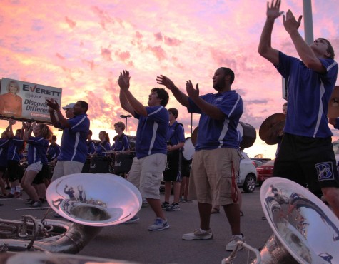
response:
{"label": "pale khaki shorts on dark-haired clapping man in blue-grey sneakers", "polygon": [[136,186],[143,198],[160,199],[160,181],[166,168],[166,154],[152,154],[144,158],[133,158],[127,180]]}

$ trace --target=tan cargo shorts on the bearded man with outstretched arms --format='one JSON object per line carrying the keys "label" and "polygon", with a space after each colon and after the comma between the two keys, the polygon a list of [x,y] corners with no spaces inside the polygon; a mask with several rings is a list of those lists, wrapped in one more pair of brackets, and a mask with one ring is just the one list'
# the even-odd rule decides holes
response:
{"label": "tan cargo shorts on the bearded man with outstretched arms", "polygon": [[216,205],[233,203],[232,175],[238,175],[240,159],[240,152],[235,148],[196,151],[192,161],[188,199],[212,204],[214,197]]}

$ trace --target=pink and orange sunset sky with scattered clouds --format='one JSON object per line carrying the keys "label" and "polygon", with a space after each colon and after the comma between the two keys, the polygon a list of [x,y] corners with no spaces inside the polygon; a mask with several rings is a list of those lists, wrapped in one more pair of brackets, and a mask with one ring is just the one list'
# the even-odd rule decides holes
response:
{"label": "pink and orange sunset sky with scattered clouds", "polygon": [[[302,5],[285,0],[281,10],[299,16]],[[339,0],[312,1],[314,37],[330,40],[339,56],[338,5]],[[2,0],[0,78],[62,88],[62,106],[87,101],[98,139],[101,130],[113,138],[113,124],[125,121],[116,81],[123,69],[130,71],[131,92],[146,105],[160,74],[182,91],[187,80],[199,83],[205,94],[214,92],[214,71],[226,66],[236,73],[232,88],[243,98],[241,121],[257,130],[255,143],[245,151],[273,158],[276,145],[260,141],[258,130],[265,118],[282,112],[285,100],[278,71],[257,52],[265,11],[261,0]],[[303,21],[299,31],[303,36]],[[272,46],[298,56],[282,17],[275,22]],[[178,121],[191,136],[191,114],[169,93],[167,108],[178,108]],[[135,135],[137,123],[128,118],[128,134]],[[6,125],[0,121],[1,129]],[[54,132],[60,140],[61,133]],[[333,140],[339,138],[339,131],[333,134]]]}

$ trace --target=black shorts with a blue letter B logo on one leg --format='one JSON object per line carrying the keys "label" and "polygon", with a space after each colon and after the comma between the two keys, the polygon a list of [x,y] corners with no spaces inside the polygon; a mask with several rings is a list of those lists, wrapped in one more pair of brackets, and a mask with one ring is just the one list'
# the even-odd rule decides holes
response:
{"label": "black shorts with a blue letter B logo on one leg", "polygon": [[275,158],[273,176],[308,187],[316,196],[321,194],[321,188],[339,187],[331,137],[309,138],[285,133]]}

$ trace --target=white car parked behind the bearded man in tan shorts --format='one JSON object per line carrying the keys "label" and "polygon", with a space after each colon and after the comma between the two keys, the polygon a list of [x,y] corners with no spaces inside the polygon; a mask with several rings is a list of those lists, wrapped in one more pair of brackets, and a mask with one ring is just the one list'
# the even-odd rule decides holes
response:
{"label": "white car parked behind the bearded man in tan shorts", "polygon": [[251,158],[241,151],[240,171],[238,177],[238,187],[242,187],[246,193],[252,193],[257,183],[257,170]]}

